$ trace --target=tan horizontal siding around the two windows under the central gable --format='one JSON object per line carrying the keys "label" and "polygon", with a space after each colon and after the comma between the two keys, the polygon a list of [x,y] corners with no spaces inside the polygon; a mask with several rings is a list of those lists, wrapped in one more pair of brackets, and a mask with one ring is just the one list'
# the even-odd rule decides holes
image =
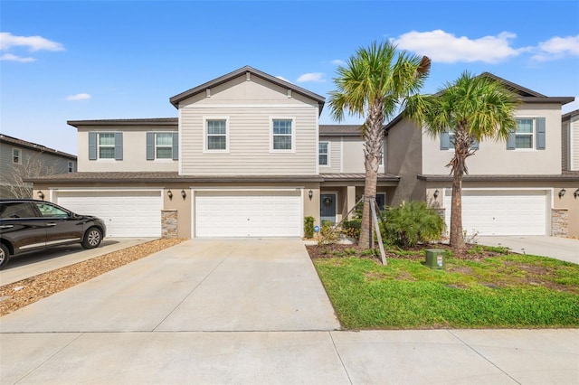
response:
{"label": "tan horizontal siding around the two windows under the central gable", "polygon": [[[317,108],[288,106],[263,108],[182,108],[182,174],[186,175],[293,175],[316,174]],[[204,153],[204,117],[228,117],[229,153]],[[271,118],[293,117],[295,153],[271,153]]]}

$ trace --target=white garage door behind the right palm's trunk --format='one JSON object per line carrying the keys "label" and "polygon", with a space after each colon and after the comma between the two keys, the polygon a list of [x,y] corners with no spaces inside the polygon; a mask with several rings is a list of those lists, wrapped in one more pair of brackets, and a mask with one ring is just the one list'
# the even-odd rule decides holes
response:
{"label": "white garage door behind the right palm's trunk", "polygon": [[[451,226],[451,189],[444,196]],[[462,191],[462,229],[479,235],[546,235],[546,191]]]}

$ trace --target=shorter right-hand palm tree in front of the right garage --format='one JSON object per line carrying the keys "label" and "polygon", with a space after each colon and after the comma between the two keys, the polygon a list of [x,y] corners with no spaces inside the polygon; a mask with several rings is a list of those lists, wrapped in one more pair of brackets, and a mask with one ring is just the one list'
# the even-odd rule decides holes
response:
{"label": "shorter right-hand palm tree in front of the right garage", "polygon": [[482,74],[463,72],[435,95],[409,99],[404,115],[437,137],[453,132],[451,167],[451,247],[465,249],[462,233],[462,176],[469,174],[466,159],[475,155],[473,144],[484,139],[504,140],[517,127],[514,118],[519,99],[502,81]]}

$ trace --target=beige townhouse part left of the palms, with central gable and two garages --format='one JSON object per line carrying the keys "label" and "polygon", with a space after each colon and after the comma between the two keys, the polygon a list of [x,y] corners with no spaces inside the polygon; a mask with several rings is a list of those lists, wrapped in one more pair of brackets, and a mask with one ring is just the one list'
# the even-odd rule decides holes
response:
{"label": "beige townhouse part left of the palms, with central gable and two garages", "polygon": [[[178,117],[69,121],[80,172],[35,188],[110,236],[301,236],[363,191],[357,127],[320,126],[324,100],[243,67],[171,98]],[[382,171],[384,201],[398,178]]]}

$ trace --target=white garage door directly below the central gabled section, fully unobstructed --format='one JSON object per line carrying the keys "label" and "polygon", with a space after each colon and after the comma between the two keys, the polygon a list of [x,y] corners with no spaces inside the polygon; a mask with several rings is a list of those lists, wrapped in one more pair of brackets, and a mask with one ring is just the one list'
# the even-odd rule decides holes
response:
{"label": "white garage door directly below the central gabled section, fully unobstructed", "polygon": [[299,237],[301,194],[195,192],[195,237]]}

